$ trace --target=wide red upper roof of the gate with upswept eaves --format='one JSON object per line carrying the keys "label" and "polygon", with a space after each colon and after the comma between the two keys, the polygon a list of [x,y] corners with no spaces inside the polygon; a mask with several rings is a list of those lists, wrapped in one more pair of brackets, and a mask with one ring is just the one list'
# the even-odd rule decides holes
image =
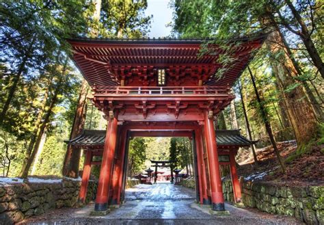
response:
{"label": "wide red upper roof of the gate with upswept eaves", "polygon": [[201,44],[211,40],[199,39],[70,39],[73,59],[90,85],[116,86],[125,73],[139,71],[152,73],[154,68],[204,73],[204,84],[213,86],[232,85],[241,75],[259,49],[265,34],[253,38],[239,38],[233,52],[235,62],[228,66],[219,79],[215,72],[222,67],[217,58],[224,53],[215,44],[213,54],[199,56]]}

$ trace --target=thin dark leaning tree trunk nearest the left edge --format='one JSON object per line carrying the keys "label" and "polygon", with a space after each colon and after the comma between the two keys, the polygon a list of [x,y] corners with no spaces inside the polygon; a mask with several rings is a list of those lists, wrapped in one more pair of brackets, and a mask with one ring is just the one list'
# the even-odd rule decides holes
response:
{"label": "thin dark leaning tree trunk nearest the left edge", "polygon": [[3,108],[2,108],[2,111],[1,111],[1,114],[0,114],[0,124],[2,124],[3,120],[5,119],[5,114],[7,114],[7,111],[9,109],[9,105],[12,101],[12,98],[14,97],[14,92],[16,92],[16,89],[17,89],[17,85],[18,85],[18,82],[20,81],[21,79],[21,75],[23,73],[23,70],[25,69],[25,66],[26,66],[26,62],[27,60],[29,59],[30,55],[31,55],[31,51],[33,49],[33,44],[35,43],[35,40],[36,40],[36,37],[33,36],[33,39],[31,40],[30,44],[29,44],[29,47],[23,57],[23,61],[21,62],[19,68],[18,68],[18,72],[16,74],[16,76],[14,76],[14,79],[13,79],[13,83],[12,83],[12,86],[10,87],[10,91],[8,93],[8,98],[7,100],[5,101],[5,104],[3,105]]}

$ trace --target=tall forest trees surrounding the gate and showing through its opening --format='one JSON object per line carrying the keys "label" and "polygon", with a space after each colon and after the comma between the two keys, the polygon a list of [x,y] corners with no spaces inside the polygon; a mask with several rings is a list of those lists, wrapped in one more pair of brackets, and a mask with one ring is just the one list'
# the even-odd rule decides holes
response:
{"label": "tall forest trees surrounding the gate and showing through its opening", "polygon": [[[147,7],[145,0],[1,1],[0,176],[62,176],[64,141],[82,129],[105,129],[66,40],[147,38]],[[167,38],[213,38],[206,43],[226,50],[219,63],[229,67],[229,40],[267,34],[234,85],[237,98],[215,121],[218,129],[241,129],[259,140],[257,148],[271,144],[276,150],[277,142],[297,140],[295,157],[323,144],[323,2],[174,0],[170,7]],[[190,148],[181,138],[136,138],[129,174],[146,169],[149,159],[174,159],[185,168],[192,162]]]}

